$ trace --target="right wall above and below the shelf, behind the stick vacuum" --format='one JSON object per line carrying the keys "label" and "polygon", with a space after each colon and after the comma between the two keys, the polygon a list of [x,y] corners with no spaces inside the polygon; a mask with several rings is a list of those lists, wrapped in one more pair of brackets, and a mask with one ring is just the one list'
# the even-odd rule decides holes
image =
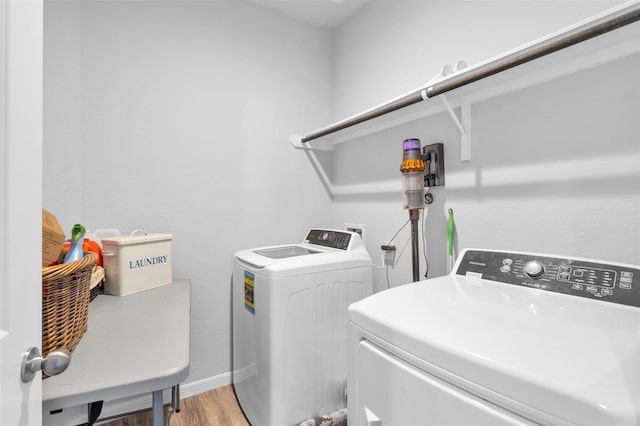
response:
{"label": "right wall above and below the shelf, behind the stick vacuum", "polygon": [[[373,2],[337,33],[335,111],[348,115],[365,110],[426,83],[444,64],[466,59],[473,65],[613,5]],[[629,58],[474,104],[469,163],[460,162],[460,134],[446,113],[338,144],[334,183],[395,179],[400,185],[402,140],[443,142],[446,186],[433,189],[435,201],[426,221],[430,277],[446,271],[449,208],[454,210],[458,248],[637,264],[640,170],[634,164],[640,160],[640,143],[633,116],[640,107],[634,83],[639,67],[639,58]],[[367,225],[367,247],[378,264],[380,243],[408,216],[399,192],[340,197],[333,214],[336,223]],[[408,238],[405,228],[396,244],[402,246]],[[384,271],[375,277],[376,287],[384,288]],[[390,271],[390,281],[398,285],[410,280],[407,248]]]}

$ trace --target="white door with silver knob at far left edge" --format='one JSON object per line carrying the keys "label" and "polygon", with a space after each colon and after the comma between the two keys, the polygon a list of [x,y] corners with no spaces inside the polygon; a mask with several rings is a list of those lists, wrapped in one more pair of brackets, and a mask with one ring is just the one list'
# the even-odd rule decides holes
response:
{"label": "white door with silver knob at far left edge", "polygon": [[0,425],[42,423],[42,0],[0,0]]}

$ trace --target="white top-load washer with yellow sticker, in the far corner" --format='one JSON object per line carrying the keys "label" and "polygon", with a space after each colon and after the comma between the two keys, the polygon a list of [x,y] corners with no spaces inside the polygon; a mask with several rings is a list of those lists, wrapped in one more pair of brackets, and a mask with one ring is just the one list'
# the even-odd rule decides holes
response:
{"label": "white top-load washer with yellow sticker, in the far corner", "polygon": [[346,407],[347,308],[372,293],[354,232],[235,254],[233,384],[253,426],[290,426]]}

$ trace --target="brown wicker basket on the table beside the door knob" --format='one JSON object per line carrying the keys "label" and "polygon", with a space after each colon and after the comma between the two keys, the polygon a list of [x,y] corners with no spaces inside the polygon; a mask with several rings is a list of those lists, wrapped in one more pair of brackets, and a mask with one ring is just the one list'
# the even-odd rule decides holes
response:
{"label": "brown wicker basket on the table beside the door knob", "polygon": [[42,356],[73,351],[87,330],[91,272],[98,256],[42,268]]}

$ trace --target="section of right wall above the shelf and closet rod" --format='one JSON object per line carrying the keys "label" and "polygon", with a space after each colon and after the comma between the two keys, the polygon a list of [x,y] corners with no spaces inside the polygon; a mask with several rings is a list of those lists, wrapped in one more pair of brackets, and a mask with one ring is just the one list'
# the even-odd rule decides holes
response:
{"label": "section of right wall above the shelf and closet rod", "polygon": [[335,34],[334,119],[572,25],[621,1],[373,1]]}

